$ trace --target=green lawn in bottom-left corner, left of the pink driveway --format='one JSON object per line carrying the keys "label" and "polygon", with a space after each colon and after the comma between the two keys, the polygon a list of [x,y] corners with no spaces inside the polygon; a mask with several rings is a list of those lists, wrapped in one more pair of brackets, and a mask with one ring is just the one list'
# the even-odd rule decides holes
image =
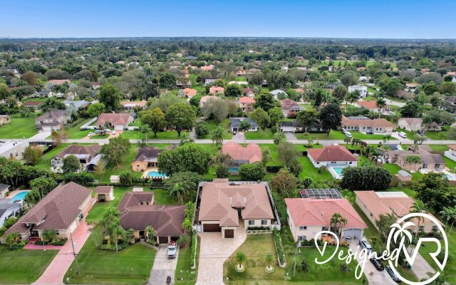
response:
{"label": "green lawn in bottom-left corner, left of the pink driveway", "polygon": [[9,250],[0,246],[0,284],[31,284],[56,256],[56,250]]}

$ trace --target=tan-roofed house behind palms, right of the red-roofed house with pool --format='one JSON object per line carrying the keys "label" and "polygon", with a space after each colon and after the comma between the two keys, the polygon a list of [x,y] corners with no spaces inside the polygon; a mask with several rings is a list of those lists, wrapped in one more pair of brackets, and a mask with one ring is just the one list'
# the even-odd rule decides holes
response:
{"label": "tan-roofed house behind palms, right of the red-roofed house with pool", "polygon": [[[420,157],[417,162],[408,162],[407,157]],[[391,150],[385,152],[385,159],[390,163],[399,165],[404,170],[408,171],[442,171],[445,168],[447,162],[443,160],[439,154],[427,152],[426,150]],[[409,159],[410,160],[410,159]]]}

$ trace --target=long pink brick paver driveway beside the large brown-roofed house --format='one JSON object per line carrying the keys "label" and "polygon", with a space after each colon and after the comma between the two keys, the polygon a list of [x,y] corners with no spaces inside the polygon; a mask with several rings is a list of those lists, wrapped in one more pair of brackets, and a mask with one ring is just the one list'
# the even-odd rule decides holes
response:
{"label": "long pink brick paver driveway beside the large brown-roofed house", "polygon": [[[92,201],[92,204],[93,202],[94,201]],[[84,217],[86,216],[87,213],[84,214]],[[90,236],[90,231],[88,224],[86,224],[86,220],[84,219],[73,232],[73,242],[75,243],[74,250],[76,254],[81,250],[88,239],[88,236]],[[65,276],[66,271],[70,268],[73,260],[73,247],[71,246],[71,240],[68,239],[60,252],[58,252],[56,257],[51,261],[51,264],[49,264],[46,271],[44,271],[43,275],[41,275],[33,284],[63,284],[63,276]]]}

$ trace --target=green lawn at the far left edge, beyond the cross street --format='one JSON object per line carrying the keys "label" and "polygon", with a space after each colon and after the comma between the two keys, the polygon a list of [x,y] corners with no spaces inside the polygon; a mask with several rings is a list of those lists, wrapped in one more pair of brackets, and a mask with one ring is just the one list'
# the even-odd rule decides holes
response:
{"label": "green lawn at the far left edge, beyond the cross street", "polygon": [[11,122],[0,127],[0,138],[31,138],[36,133],[35,118],[13,116]]}

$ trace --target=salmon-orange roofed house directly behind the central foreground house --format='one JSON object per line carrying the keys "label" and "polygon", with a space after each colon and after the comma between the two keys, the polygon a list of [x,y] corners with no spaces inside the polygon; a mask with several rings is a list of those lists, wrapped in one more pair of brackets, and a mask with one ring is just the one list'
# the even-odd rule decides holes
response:
{"label": "salmon-orange roofed house directly behind the central foreground house", "polygon": [[222,146],[222,152],[227,153],[234,160],[234,165],[261,161],[261,148],[256,143],[249,143],[246,147],[237,142],[227,142]]}

